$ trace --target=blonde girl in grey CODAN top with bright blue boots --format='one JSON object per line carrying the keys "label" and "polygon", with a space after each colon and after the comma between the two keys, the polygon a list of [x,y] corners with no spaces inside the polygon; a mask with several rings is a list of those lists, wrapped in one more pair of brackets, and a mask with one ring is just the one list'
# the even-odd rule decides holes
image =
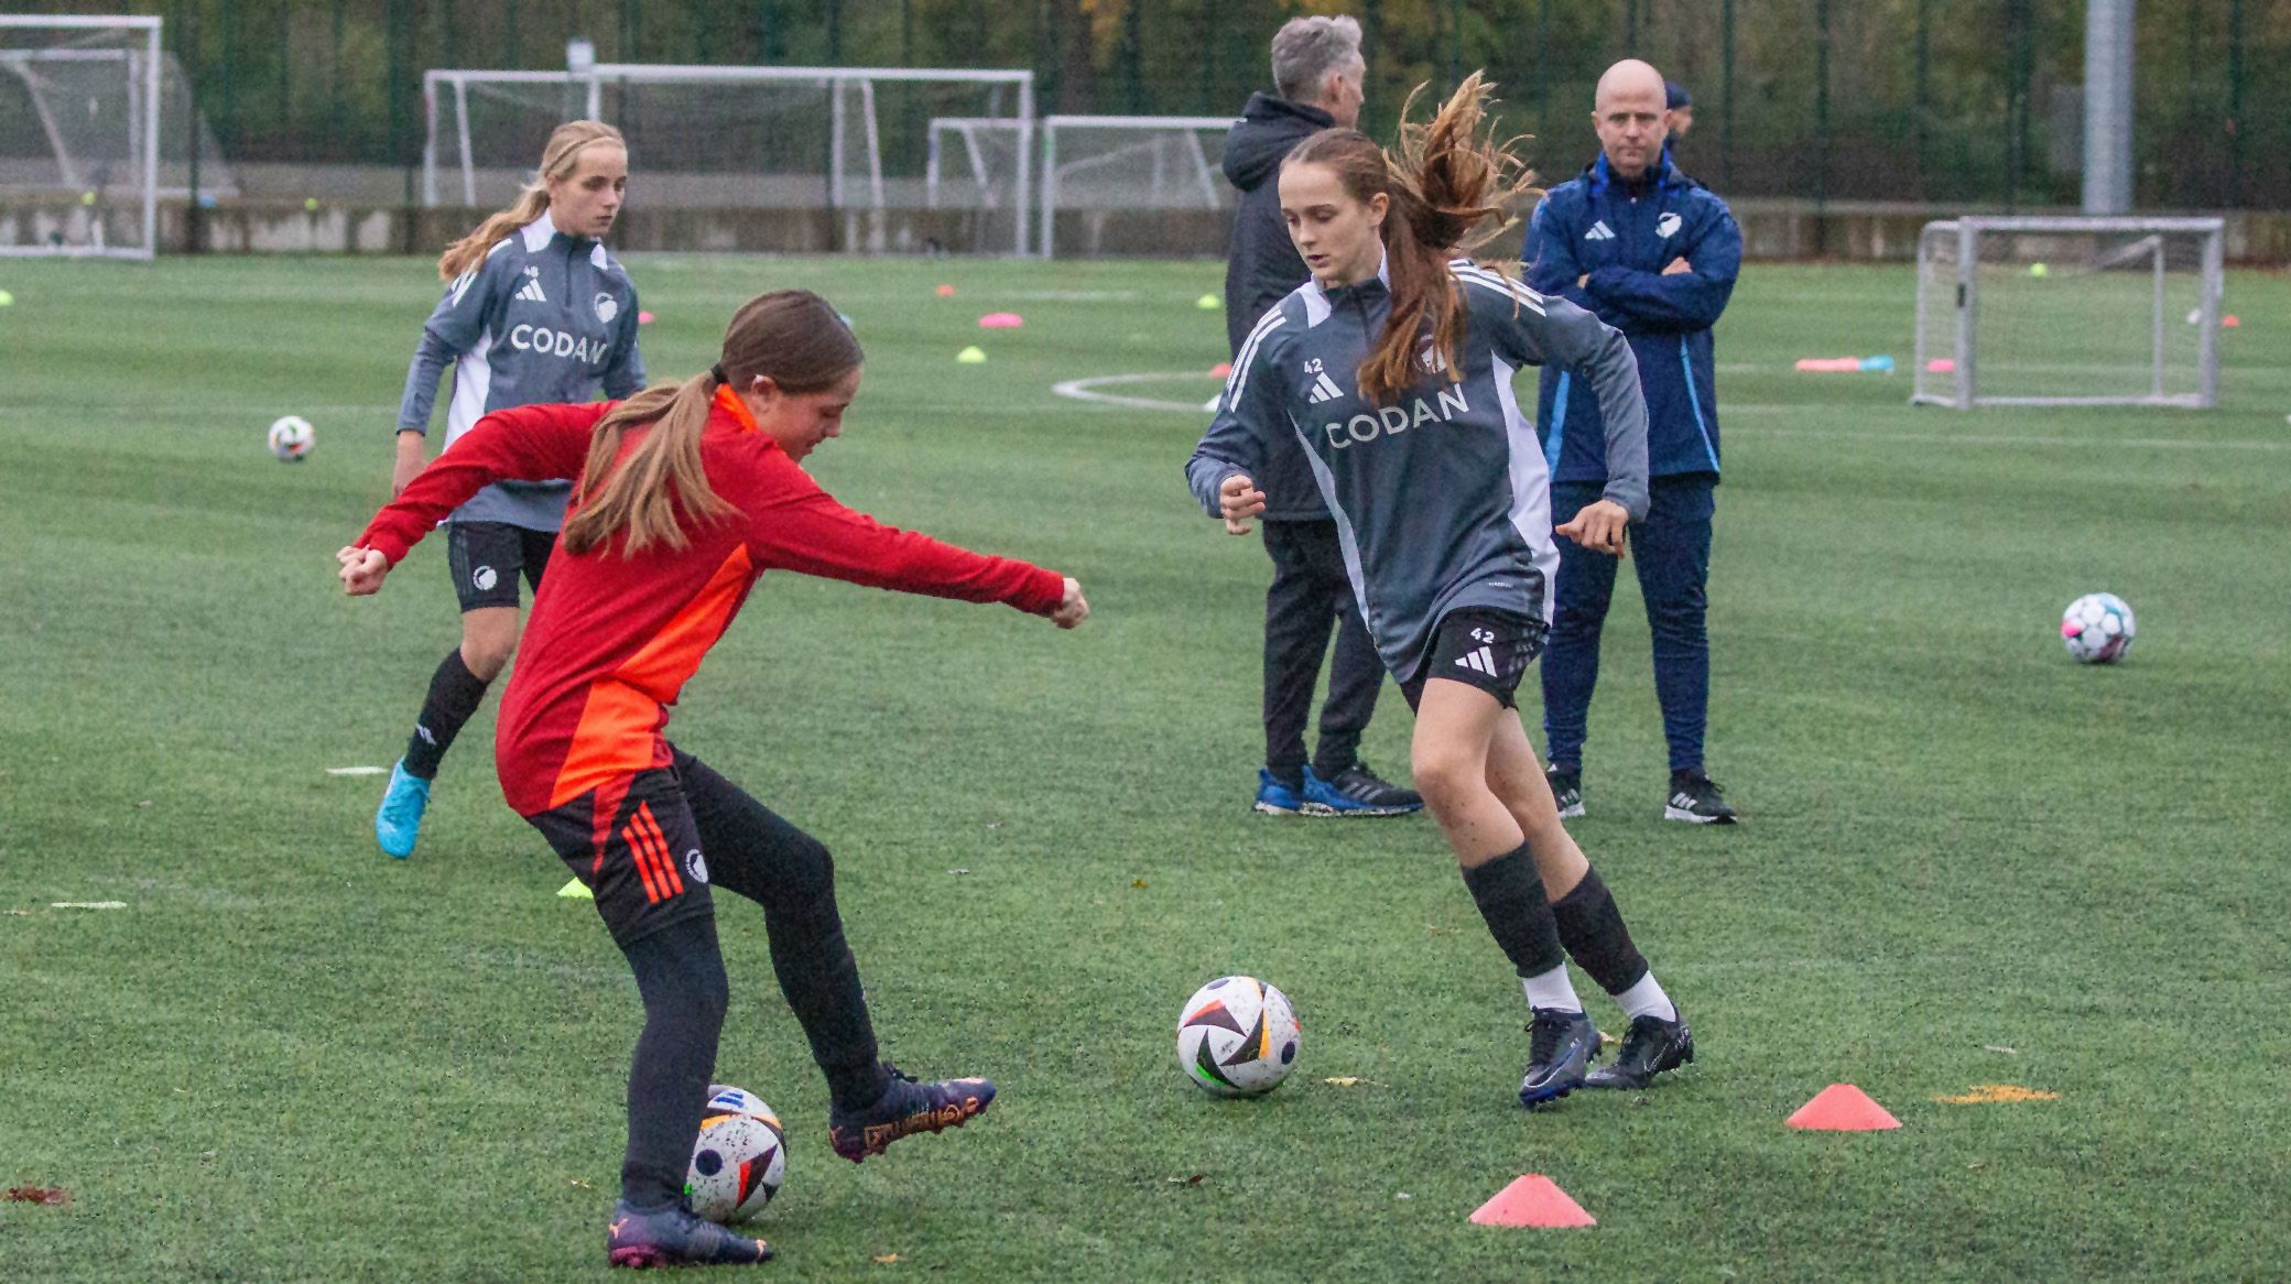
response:
{"label": "blonde girl in grey CODAN top with bright blue boots", "polygon": [[[447,366],[454,366],[447,446],[493,410],[591,401],[598,391],[619,401],[644,387],[637,288],[598,240],[612,231],[625,190],[621,130],[598,121],[561,124],[518,204],[438,259],[438,275],[449,284],[406,371],[392,494],[426,462],[431,405]],[[518,574],[541,588],[568,494],[568,481],[504,481],[447,520],[460,645],[431,675],[406,758],[392,767],[373,813],[383,851],[412,854],[438,762],[518,648]]]}

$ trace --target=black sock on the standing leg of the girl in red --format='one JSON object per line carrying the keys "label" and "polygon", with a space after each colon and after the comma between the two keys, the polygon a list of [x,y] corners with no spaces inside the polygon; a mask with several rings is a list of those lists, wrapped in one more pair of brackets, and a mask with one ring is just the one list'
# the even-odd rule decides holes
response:
{"label": "black sock on the standing leg of the girl in red", "polygon": [[658,1208],[685,1190],[731,986],[713,916],[674,922],[621,950],[644,996],[644,1032],[628,1067],[621,1197],[630,1208]]}

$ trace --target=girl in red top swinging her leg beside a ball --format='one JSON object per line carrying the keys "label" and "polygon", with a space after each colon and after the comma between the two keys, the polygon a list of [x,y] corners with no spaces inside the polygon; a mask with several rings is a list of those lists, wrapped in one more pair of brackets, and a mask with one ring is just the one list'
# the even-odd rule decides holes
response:
{"label": "girl in red top swinging her leg beside a ball", "polygon": [[770,1257],[680,1202],[729,1002],[710,881],[763,906],[779,989],[827,1073],[836,1154],[857,1163],[994,1101],[983,1078],[914,1083],[877,1062],[827,849],[662,737],[685,680],[772,568],[1008,602],[1063,629],[1088,616],[1072,579],[882,526],[797,467],[841,430],[859,362],[827,300],[761,295],[703,375],[616,405],[488,414],[337,554],[344,588],[376,593],[479,488],[580,478],[502,698],[495,758],[509,806],[596,893],[644,996],[614,1266]]}

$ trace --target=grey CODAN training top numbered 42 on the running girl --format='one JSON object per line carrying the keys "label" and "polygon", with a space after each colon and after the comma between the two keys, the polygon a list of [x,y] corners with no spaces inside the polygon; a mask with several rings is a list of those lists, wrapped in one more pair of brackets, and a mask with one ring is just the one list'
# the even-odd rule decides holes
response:
{"label": "grey CODAN training top numbered 42 on the running girl", "polygon": [[[1597,389],[1606,499],[1633,522],[1647,515],[1647,403],[1622,334],[1466,259],[1448,272],[1469,309],[1455,378],[1425,368],[1393,405],[1370,405],[1356,371],[1391,311],[1384,272],[1336,291],[1306,282],[1249,334],[1217,419],[1184,467],[1194,497],[1217,517],[1219,485],[1255,476],[1274,433],[1294,435],[1336,517],[1368,632],[1402,680],[1423,666],[1448,611],[1551,618],[1560,563],[1551,476],[1512,396],[1514,371],[1549,362]],[[1430,339],[1425,348],[1430,362]]]}

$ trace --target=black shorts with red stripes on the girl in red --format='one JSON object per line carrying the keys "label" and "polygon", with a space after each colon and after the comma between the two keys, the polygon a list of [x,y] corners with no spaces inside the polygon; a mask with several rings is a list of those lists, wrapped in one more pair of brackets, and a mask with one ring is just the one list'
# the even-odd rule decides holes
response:
{"label": "black shorts with red stripes on the girl in red", "polygon": [[692,803],[669,767],[637,771],[619,796],[591,790],[525,819],[596,893],[616,945],[715,913]]}

